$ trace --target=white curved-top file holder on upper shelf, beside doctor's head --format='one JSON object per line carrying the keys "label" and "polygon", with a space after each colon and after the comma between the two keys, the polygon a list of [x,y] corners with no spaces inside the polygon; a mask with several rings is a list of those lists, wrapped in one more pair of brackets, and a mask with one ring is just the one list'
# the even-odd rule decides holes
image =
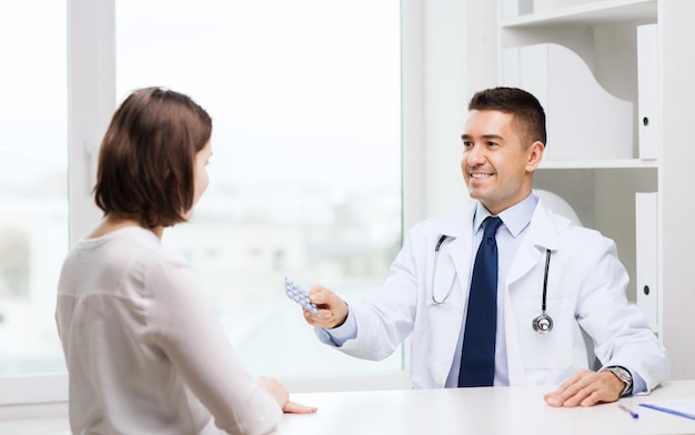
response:
{"label": "white curved-top file holder on upper shelf, beside doctor's head", "polygon": [[504,49],[502,81],[545,109],[547,160],[633,158],[633,103],[608,93],[574,51],[556,43]]}

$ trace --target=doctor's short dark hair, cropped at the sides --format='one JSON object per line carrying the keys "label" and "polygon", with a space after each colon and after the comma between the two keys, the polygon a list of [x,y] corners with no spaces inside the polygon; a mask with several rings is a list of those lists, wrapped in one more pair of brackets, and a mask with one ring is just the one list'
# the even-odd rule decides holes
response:
{"label": "doctor's short dark hair, cropped at the sides", "polygon": [[469,102],[469,110],[496,110],[511,113],[513,125],[524,146],[540,141],[545,145],[545,111],[530,92],[518,88],[491,88],[476,92]]}

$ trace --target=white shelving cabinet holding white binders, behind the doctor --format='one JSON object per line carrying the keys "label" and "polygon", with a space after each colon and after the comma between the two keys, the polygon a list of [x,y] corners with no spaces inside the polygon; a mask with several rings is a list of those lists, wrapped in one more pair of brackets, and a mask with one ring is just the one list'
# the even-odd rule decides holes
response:
{"label": "white shelving cabinet holding white binders, behind the doctor", "polygon": [[[673,376],[695,377],[695,1],[497,6],[498,83],[534,88],[547,107],[534,188],[560,194],[584,225],[615,240],[632,280],[628,297],[649,297],[642,306],[652,311]],[[635,198],[648,192],[656,206],[641,213],[655,215],[638,220]],[[641,222],[656,222],[648,243],[636,233]],[[657,255],[651,265],[639,261],[637,273],[642,249]]]}

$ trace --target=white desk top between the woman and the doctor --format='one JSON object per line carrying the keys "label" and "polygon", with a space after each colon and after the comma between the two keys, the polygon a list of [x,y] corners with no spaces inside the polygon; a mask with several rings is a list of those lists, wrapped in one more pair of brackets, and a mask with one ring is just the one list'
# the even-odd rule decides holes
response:
{"label": "white desk top between the woman and the doctor", "polygon": [[641,402],[695,398],[695,381],[673,381],[648,396],[616,403],[554,408],[548,387],[484,387],[293,394],[319,407],[313,415],[285,414],[281,434],[695,434],[695,421],[637,406]]}

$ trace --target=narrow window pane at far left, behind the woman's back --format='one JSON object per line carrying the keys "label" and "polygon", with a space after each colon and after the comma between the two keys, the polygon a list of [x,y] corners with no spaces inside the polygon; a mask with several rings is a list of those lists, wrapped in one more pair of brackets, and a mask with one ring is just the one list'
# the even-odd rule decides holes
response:
{"label": "narrow window pane at far left, behind the woman's back", "polygon": [[0,375],[63,371],[56,285],[68,239],[66,2],[0,3]]}

